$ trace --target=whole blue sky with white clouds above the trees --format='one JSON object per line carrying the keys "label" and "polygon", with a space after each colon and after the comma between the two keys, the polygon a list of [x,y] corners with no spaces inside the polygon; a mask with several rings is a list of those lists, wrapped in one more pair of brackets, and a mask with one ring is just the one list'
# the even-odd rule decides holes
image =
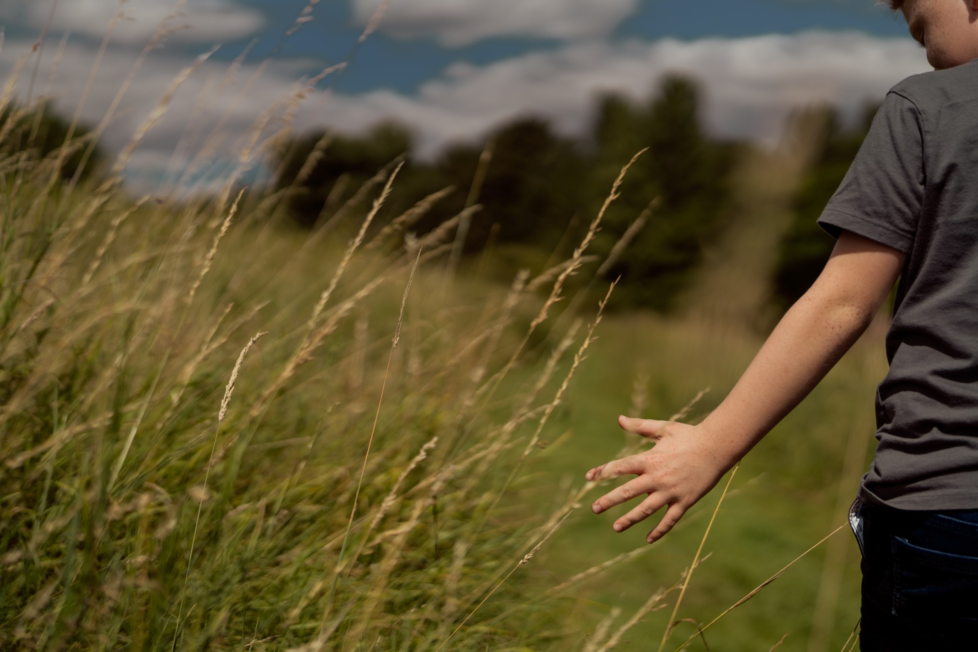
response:
{"label": "whole blue sky with white clouds above the trees", "polygon": [[514,116],[581,133],[669,72],[712,133],[772,143],[793,108],[857,115],[930,70],[873,0],[2,0],[0,27],[2,92],[101,125],[143,186],[254,174],[286,125],[395,118],[422,157]]}

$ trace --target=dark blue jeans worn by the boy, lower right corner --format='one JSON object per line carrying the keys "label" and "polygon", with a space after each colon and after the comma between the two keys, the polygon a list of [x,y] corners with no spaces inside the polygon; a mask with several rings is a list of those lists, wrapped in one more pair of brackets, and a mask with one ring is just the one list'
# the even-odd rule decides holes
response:
{"label": "dark blue jeans worn by the boy, lower right corner", "polygon": [[859,513],[860,649],[978,650],[978,511]]}

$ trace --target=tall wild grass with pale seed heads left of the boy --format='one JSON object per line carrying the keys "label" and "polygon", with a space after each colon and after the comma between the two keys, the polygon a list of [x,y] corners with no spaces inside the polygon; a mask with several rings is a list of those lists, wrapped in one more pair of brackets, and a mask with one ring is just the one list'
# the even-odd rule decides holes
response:
{"label": "tall wild grass with pale seed heads left of the boy", "polygon": [[[129,197],[126,161],[201,61],[108,177],[60,179],[79,138],[0,160],[0,647],[609,650],[670,599],[666,637],[689,621],[699,551],[624,621],[551,599],[640,551],[555,579],[538,562],[588,518],[568,514],[595,486],[568,483],[546,508],[523,499],[607,296],[556,306],[595,262],[630,163],[573,256],[513,270],[508,288],[455,273],[478,179],[421,239],[413,223],[451,190],[386,214],[399,161],[328,202],[312,234],[285,228],[293,189],[237,188],[275,146],[273,110],[214,197]],[[296,101],[277,105],[287,128]],[[29,143],[29,126],[12,120],[0,145]],[[612,256],[654,212],[637,218]],[[843,480],[860,466],[850,448]],[[833,550],[822,638],[845,561]]]}

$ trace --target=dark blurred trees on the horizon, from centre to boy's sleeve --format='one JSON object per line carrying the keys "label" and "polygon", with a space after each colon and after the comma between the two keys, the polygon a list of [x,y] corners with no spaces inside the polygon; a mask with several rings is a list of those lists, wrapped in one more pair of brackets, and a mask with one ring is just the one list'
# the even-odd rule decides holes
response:
{"label": "dark blurred trees on the horizon, from centre to boy's sleeve", "polygon": [[[749,147],[709,136],[700,109],[696,84],[668,76],[645,102],[617,94],[600,97],[589,131],[577,138],[557,133],[535,116],[498,127],[488,136],[492,158],[481,184],[476,182],[482,210],[471,222],[465,251],[492,244],[493,257],[509,270],[519,265],[540,271],[569,256],[622,163],[648,147],[629,172],[589,254],[607,256],[658,198],[643,230],[604,276],[622,279],[614,297],[618,307],[668,311],[688,286],[704,249],[731,222],[733,169]],[[826,120],[778,254],[773,300],[782,307],[804,293],[831,251],[833,241],[816,218],[858,151],[871,115],[855,130],[844,129],[834,114]],[[483,145],[459,144],[434,160],[420,161],[412,156],[413,145],[410,131],[394,123],[360,137],[307,133],[277,151],[275,186],[291,188],[297,224],[318,228],[379,169],[406,155],[384,210],[388,218],[432,193],[454,188],[415,225],[424,233],[474,199],[470,191],[486,152]],[[306,162],[317,148],[321,158],[310,167]],[[382,219],[376,227],[381,226]]]}

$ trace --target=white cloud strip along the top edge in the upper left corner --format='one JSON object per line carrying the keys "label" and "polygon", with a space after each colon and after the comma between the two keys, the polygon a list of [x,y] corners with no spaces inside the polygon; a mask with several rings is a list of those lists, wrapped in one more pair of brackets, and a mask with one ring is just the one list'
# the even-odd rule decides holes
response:
{"label": "white cloud strip along the top edge in the upper left corner", "polygon": [[[0,19],[43,28],[53,0],[3,0]],[[165,21],[180,28],[170,38],[183,41],[223,42],[257,32],[265,23],[261,13],[247,9],[233,0],[188,0],[174,15],[176,0],[62,0],[56,8],[52,27],[59,31],[81,33],[102,38],[113,17],[112,40],[116,43],[140,44],[148,41]]]}

